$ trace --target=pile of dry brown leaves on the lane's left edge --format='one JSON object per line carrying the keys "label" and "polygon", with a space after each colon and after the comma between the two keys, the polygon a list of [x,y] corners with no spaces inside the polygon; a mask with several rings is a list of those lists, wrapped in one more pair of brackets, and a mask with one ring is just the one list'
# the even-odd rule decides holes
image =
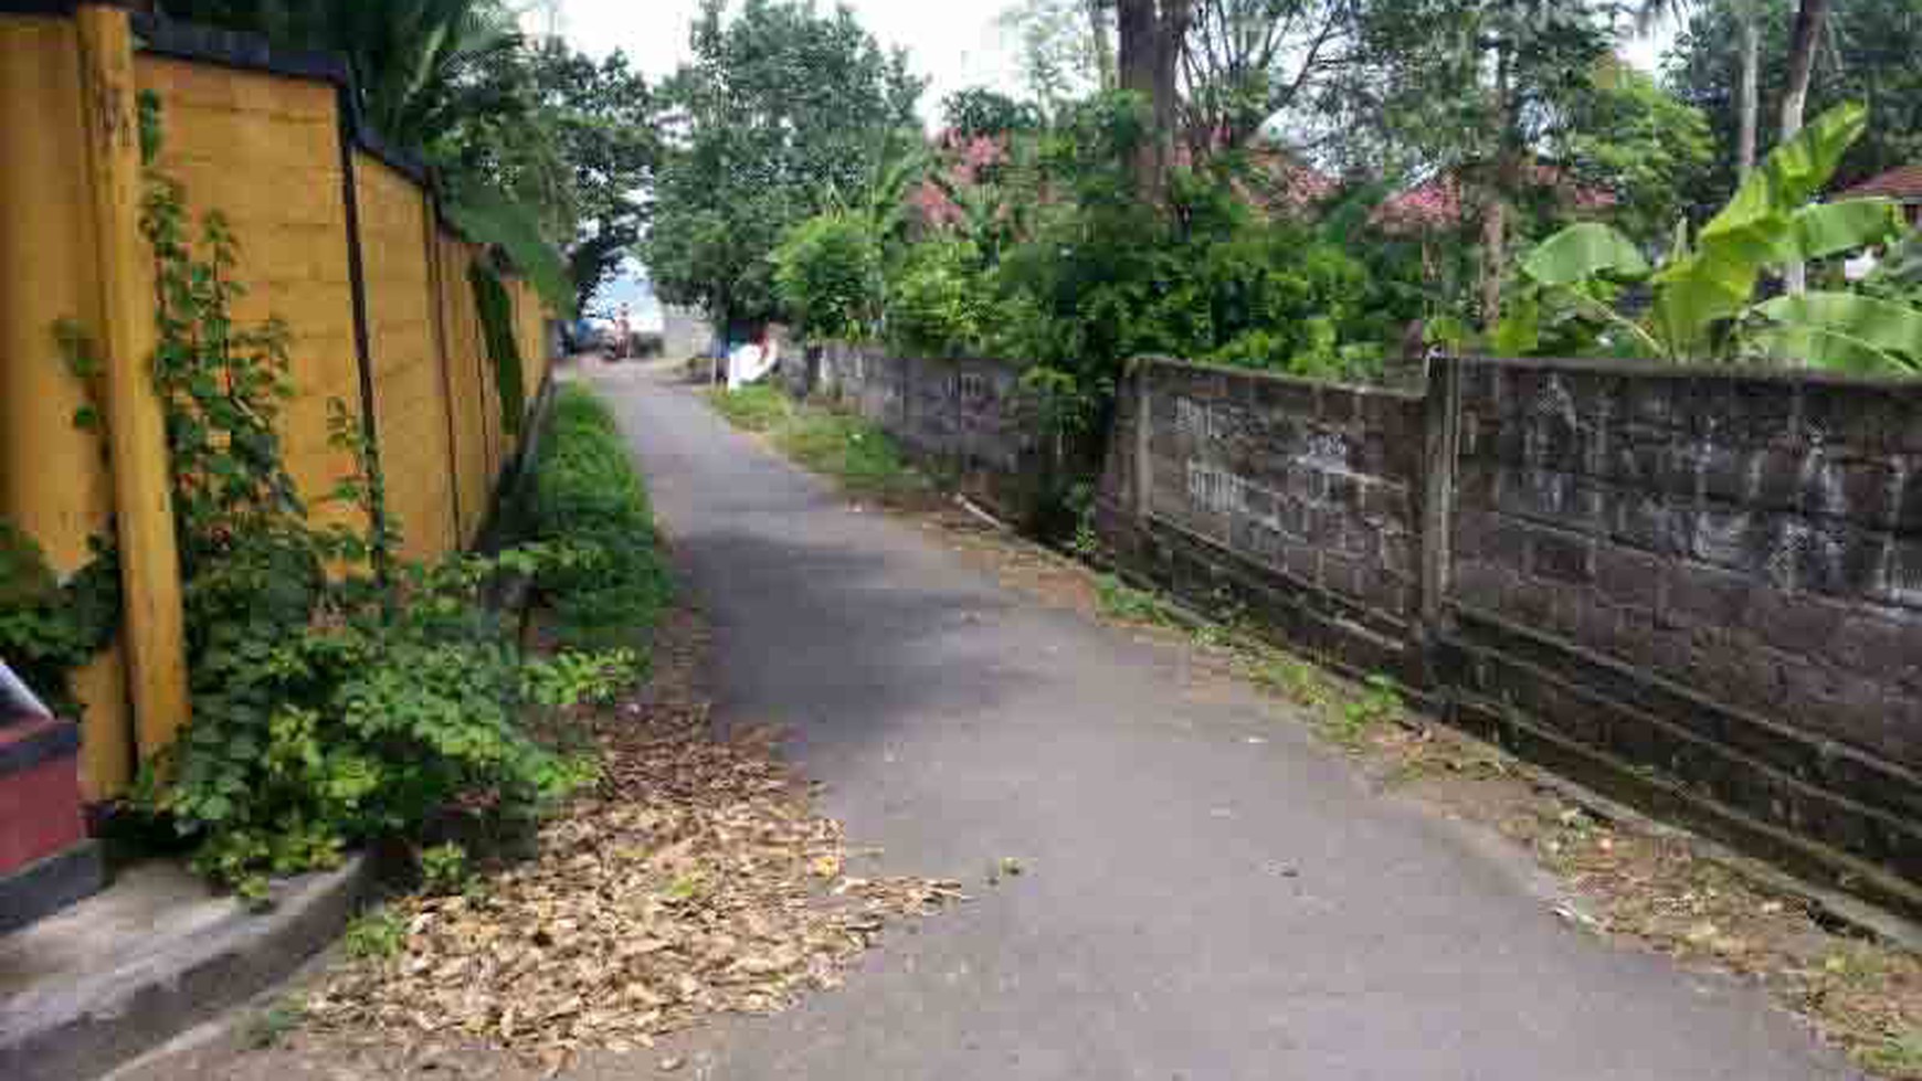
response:
{"label": "pile of dry brown leaves on the lane's left edge", "polygon": [[663,661],[650,701],[579,718],[604,780],[544,826],[534,860],[398,902],[398,954],[336,973],[308,1016],[548,1062],[632,1050],[836,987],[888,920],[961,899],[955,881],[850,876],[842,826],[813,814],[769,733],[711,737],[677,670],[690,653]]}

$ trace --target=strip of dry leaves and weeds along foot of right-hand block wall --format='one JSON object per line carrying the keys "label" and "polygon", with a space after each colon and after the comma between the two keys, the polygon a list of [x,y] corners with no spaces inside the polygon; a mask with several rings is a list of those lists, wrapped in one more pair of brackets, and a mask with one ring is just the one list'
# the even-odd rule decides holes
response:
{"label": "strip of dry leaves and weeds along foot of right-hand block wall", "polygon": [[1576,803],[1499,747],[1424,722],[1393,680],[1347,680],[1269,643],[1226,599],[1213,605],[1220,618],[1201,620],[1113,574],[996,536],[949,532],[1015,588],[1180,643],[1192,651],[1190,678],[1245,680],[1299,707],[1307,726],[1384,793],[1526,849],[1563,883],[1566,901],[1555,910],[1570,925],[1747,975],[1870,1075],[1922,1081],[1922,958],[1914,952],[1851,933],[1682,833]]}

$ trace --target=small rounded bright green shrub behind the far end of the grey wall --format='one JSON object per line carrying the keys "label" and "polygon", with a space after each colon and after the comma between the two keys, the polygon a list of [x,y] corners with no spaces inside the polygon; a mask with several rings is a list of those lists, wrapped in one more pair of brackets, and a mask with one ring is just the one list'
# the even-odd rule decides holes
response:
{"label": "small rounded bright green shrub behind the far end of the grey wall", "polygon": [[880,244],[851,213],[811,217],[775,250],[775,296],[803,334],[861,338],[878,303]]}

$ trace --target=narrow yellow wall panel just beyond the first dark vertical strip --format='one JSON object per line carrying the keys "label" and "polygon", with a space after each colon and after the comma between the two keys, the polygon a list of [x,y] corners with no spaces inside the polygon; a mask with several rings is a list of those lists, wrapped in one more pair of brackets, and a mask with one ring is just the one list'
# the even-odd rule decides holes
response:
{"label": "narrow yellow wall panel just beyond the first dark vertical strip", "polygon": [[367,282],[367,349],[373,415],[388,513],[407,559],[461,547],[454,522],[454,457],[448,396],[434,340],[427,192],[377,157],[356,152],[361,265]]}

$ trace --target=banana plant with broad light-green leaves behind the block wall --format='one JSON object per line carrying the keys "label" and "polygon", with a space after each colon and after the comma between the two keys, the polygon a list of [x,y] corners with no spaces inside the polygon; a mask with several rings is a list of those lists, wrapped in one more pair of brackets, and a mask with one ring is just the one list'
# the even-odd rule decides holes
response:
{"label": "banana plant with broad light-green leaves behind the block wall", "polygon": [[[1862,134],[1868,113],[1841,106],[1780,146],[1693,238],[1688,223],[1659,265],[1614,228],[1572,225],[1520,265],[1524,294],[1495,349],[1536,353],[1572,324],[1611,330],[1618,348],[1668,361],[1799,361],[1845,371],[1922,374],[1922,311],[1855,292],[1757,298],[1770,271],[1893,240],[1889,200],[1811,204]],[[1643,284],[1639,317],[1616,309],[1622,286]],[[1566,340],[1566,334],[1563,334]]]}

